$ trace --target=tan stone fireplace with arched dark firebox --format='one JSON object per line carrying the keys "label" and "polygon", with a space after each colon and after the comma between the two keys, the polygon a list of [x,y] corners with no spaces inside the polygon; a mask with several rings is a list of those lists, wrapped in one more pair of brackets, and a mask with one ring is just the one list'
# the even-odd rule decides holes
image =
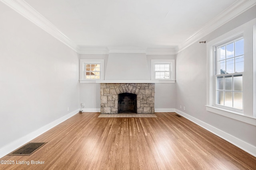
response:
{"label": "tan stone fireplace with arched dark firebox", "polygon": [[100,113],[154,113],[154,83],[101,83]]}

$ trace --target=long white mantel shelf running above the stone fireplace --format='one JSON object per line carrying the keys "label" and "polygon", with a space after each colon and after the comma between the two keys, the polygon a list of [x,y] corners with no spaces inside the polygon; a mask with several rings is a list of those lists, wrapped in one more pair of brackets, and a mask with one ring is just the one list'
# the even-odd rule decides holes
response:
{"label": "long white mantel shelf running above the stone fireplace", "polygon": [[175,83],[175,80],[80,80],[80,83]]}

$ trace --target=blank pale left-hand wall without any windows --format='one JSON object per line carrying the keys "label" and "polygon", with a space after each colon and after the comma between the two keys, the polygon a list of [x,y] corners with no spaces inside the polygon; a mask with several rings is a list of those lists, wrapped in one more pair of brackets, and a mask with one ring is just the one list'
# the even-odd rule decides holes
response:
{"label": "blank pale left-hand wall without any windows", "polygon": [[79,56],[2,2],[0,11],[1,149],[79,108]]}

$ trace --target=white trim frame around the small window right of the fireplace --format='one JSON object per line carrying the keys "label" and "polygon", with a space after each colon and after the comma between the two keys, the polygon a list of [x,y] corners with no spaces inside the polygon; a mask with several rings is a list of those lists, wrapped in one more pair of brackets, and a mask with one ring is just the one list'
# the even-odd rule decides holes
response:
{"label": "white trim frame around the small window right of the fireplace", "polygon": [[[170,63],[171,66],[171,75],[170,79],[156,79],[155,78],[155,71],[154,71],[154,65],[155,63]],[[151,60],[151,80],[158,80],[159,83],[175,83],[175,60],[174,59],[169,59],[169,60],[158,60],[158,59],[152,59]]]}

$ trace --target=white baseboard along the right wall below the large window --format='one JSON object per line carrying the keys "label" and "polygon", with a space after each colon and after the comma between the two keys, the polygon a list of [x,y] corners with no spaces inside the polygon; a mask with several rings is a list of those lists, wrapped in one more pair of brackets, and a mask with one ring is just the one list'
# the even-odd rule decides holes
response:
{"label": "white baseboard along the right wall below the large window", "polygon": [[200,121],[199,119],[196,119],[178,109],[176,109],[175,112],[178,113],[179,115],[182,115],[183,117],[187,118],[188,120],[196,123],[197,125],[201,126],[202,128],[214,133],[218,137],[221,137],[222,139],[232,143],[233,145],[237,146],[238,148],[248,152],[249,154],[256,156],[256,146],[246,143],[245,141],[242,141],[241,139],[238,139],[237,137],[234,137],[220,129],[217,129],[216,127],[213,127],[212,125],[204,123],[203,121]]}

